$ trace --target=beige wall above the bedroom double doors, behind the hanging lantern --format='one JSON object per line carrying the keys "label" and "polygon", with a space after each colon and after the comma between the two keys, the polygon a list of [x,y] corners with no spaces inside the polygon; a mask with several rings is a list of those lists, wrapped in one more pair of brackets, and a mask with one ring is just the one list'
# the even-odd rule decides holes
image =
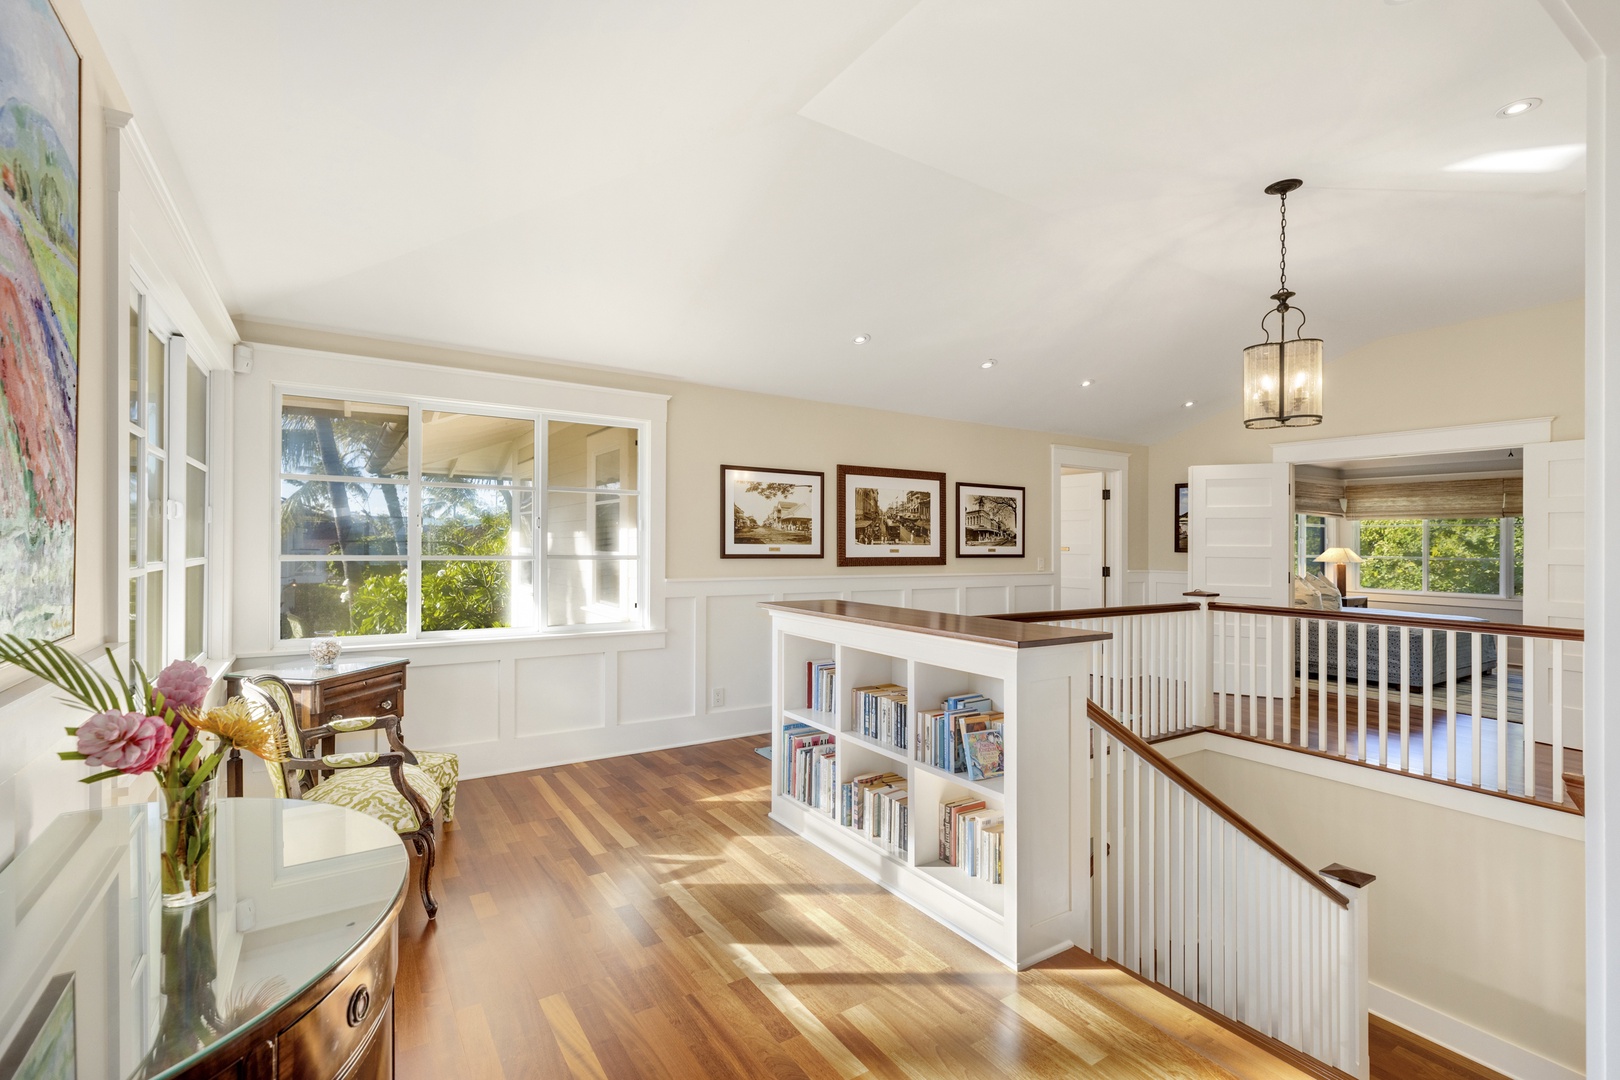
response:
{"label": "beige wall above the bedroom double doors, behind the hanging lantern", "polygon": [[[1327,419],[1296,431],[1247,431],[1238,408],[1149,449],[1149,568],[1186,570],[1171,500],[1189,465],[1270,461],[1272,447],[1385,431],[1554,416],[1552,437],[1584,436],[1584,308],[1570,300],[1380,338],[1330,361]],[[1233,379],[1241,377],[1231,358]],[[1132,565],[1137,565],[1132,562]]]}

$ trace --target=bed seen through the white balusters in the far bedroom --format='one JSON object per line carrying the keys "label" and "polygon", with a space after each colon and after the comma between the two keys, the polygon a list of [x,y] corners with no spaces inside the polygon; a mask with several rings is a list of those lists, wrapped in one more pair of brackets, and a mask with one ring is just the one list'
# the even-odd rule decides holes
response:
{"label": "bed seen through the white balusters in the far bedroom", "polygon": [[[1333,612],[1311,612],[1312,615],[1320,614],[1324,619],[1333,619]],[[1456,677],[1468,678],[1474,674],[1474,638],[1468,633],[1469,623],[1482,623],[1484,619],[1474,619],[1473,615],[1432,615],[1427,612],[1403,612],[1390,610],[1382,607],[1359,607],[1358,615],[1393,615],[1403,619],[1432,619],[1437,622],[1455,622],[1458,623],[1456,635]],[[1299,674],[1299,648],[1301,641],[1306,644],[1306,670],[1311,678],[1322,678],[1327,682],[1338,682],[1338,631],[1343,627],[1348,633],[1345,636],[1345,680],[1351,683],[1361,682],[1361,649],[1359,644],[1359,623],[1346,622],[1320,622],[1309,623],[1301,620],[1296,623],[1294,633],[1294,674]],[[1400,651],[1400,633],[1401,627],[1385,627],[1382,623],[1367,623],[1367,683],[1377,685],[1379,675],[1382,674],[1382,682],[1390,687],[1401,685],[1401,651]],[[1422,638],[1424,635],[1430,638],[1430,664],[1427,669],[1422,661]],[[1385,635],[1388,635],[1388,646],[1383,648]],[[1322,638],[1327,638],[1324,646]],[[1492,635],[1484,635],[1481,638],[1481,664],[1484,672],[1494,672],[1497,667],[1497,640]],[[1320,657],[1327,656],[1327,669],[1324,672]],[[1406,685],[1413,690],[1421,690],[1422,687],[1439,685],[1447,680],[1447,656],[1445,656],[1445,631],[1443,630],[1406,630],[1406,654],[1408,654],[1408,682]]]}

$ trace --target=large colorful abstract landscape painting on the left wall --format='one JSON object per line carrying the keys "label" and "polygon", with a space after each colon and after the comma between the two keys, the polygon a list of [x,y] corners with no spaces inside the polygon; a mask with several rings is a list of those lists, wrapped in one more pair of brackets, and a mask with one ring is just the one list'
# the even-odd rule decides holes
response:
{"label": "large colorful abstract landscape painting on the left wall", "polygon": [[0,633],[73,633],[79,57],[47,0],[0,0]]}

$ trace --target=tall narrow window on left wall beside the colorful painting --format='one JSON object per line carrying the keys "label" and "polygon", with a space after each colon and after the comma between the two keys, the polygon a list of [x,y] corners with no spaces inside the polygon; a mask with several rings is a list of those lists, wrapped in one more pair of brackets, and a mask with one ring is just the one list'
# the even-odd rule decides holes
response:
{"label": "tall narrow window on left wall beside the colorful painting", "polygon": [[139,283],[130,296],[128,640],[156,672],[207,649],[209,376]]}

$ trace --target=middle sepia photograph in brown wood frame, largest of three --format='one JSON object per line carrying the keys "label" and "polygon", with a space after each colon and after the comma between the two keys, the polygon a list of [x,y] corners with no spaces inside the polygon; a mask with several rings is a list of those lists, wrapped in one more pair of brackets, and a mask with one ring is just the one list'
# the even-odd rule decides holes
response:
{"label": "middle sepia photograph in brown wood frame, largest of three", "polygon": [[943,567],[944,473],[839,465],[838,565]]}

